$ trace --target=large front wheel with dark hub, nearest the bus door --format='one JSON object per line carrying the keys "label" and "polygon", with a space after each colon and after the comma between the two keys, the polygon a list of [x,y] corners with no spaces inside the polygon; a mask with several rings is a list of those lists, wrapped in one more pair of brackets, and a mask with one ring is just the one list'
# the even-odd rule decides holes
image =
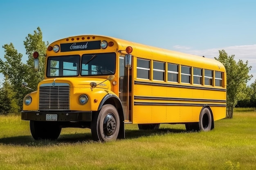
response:
{"label": "large front wheel with dark hub, nearest the bus door", "polygon": [[111,104],[103,105],[101,110],[92,116],[91,132],[94,141],[115,141],[119,128],[119,115]]}

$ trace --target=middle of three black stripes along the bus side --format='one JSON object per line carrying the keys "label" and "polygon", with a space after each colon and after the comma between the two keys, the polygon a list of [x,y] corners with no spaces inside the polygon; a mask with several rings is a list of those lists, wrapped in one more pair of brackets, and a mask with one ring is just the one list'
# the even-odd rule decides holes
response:
{"label": "middle of three black stripes along the bus side", "polygon": [[151,97],[151,96],[134,96],[134,99],[150,99],[150,100],[179,100],[179,101],[193,101],[193,102],[225,102],[226,100],[214,99],[195,99],[195,98],[178,98],[178,97]]}

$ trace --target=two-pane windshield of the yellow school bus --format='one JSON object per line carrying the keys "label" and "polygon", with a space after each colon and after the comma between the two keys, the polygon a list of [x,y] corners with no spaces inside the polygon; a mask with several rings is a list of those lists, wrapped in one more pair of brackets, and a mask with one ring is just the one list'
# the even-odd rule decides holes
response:
{"label": "two-pane windshield of the yellow school bus", "polygon": [[48,57],[47,77],[113,75],[115,66],[115,53],[54,56]]}

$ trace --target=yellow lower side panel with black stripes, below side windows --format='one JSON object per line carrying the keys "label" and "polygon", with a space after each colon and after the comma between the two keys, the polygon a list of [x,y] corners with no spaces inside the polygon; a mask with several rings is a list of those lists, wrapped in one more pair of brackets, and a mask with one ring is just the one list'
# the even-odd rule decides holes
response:
{"label": "yellow lower side panel with black stripes, below side windows", "polygon": [[198,122],[205,105],[211,107],[214,120],[225,117],[225,91],[148,82],[135,82],[133,89],[133,123]]}

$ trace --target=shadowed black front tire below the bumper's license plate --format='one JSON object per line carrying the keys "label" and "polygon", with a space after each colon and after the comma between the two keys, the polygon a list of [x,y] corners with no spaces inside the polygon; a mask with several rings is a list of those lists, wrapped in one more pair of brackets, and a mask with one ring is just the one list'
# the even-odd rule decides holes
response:
{"label": "shadowed black front tire below the bumper's license plate", "polygon": [[45,121],[30,121],[31,135],[35,140],[51,139],[56,140],[61,134],[61,126],[56,123]]}

